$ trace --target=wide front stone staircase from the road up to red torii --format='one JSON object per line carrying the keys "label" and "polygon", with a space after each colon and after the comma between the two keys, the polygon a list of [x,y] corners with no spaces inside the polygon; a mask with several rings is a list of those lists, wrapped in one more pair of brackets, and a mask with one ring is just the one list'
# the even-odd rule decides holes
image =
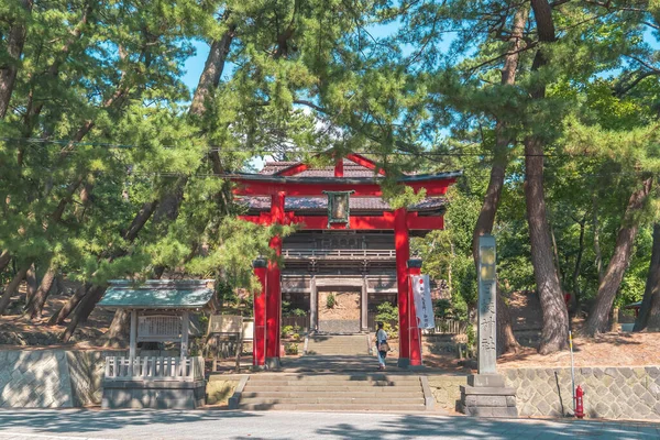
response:
{"label": "wide front stone staircase from the road up to red torii", "polygon": [[238,408],[245,410],[400,413],[426,409],[420,376],[387,373],[252,374],[238,400]]}

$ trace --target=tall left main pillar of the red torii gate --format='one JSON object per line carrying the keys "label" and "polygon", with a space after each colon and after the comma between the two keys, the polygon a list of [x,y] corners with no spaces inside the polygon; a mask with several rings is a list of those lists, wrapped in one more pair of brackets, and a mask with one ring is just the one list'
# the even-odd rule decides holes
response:
{"label": "tall left main pillar of the red torii gate", "polygon": [[[271,221],[284,223],[284,191],[271,196]],[[282,254],[282,238],[275,235],[271,239],[271,248],[275,254]],[[268,263],[266,295],[266,365],[271,369],[279,367],[279,327],[282,315],[282,286],[279,266],[276,262]]]}

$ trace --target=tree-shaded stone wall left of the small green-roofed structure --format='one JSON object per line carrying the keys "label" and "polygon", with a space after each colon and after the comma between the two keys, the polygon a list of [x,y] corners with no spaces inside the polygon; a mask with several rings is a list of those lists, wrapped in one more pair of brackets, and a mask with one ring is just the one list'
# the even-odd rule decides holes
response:
{"label": "tree-shaded stone wall left of the small green-roofed structure", "polygon": [[0,351],[0,407],[72,408],[99,405],[103,361],[109,353]]}

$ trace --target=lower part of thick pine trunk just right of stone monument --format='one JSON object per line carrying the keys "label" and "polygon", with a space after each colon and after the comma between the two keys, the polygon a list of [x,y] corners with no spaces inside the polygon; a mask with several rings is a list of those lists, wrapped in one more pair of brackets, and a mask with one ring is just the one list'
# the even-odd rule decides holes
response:
{"label": "lower part of thick pine trunk just right of stone monument", "polygon": [[552,256],[543,195],[543,148],[541,142],[535,136],[525,140],[525,200],[531,242],[531,263],[543,314],[539,353],[549,354],[568,346],[569,310]]}

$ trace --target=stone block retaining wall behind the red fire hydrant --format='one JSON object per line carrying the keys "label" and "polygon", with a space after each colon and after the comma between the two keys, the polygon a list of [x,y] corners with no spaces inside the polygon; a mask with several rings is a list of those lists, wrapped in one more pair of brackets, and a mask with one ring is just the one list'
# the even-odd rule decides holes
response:
{"label": "stone block retaining wall behind the red fire hydrant", "polygon": [[[520,416],[573,413],[571,369],[507,369]],[[660,366],[575,369],[588,418],[660,420]]]}

